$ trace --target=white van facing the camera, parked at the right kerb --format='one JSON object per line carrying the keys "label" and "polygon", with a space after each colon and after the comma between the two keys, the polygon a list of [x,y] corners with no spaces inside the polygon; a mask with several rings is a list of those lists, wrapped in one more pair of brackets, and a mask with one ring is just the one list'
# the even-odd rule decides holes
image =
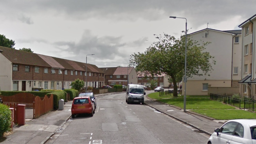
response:
{"label": "white van facing the camera, parked at the right kerb", "polygon": [[126,88],[126,103],[130,102],[144,104],[144,87],[139,84],[128,84]]}

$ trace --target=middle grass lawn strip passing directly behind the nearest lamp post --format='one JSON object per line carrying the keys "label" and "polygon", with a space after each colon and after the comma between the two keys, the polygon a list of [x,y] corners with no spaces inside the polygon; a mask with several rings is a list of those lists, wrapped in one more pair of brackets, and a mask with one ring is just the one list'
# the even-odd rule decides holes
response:
{"label": "middle grass lawn strip passing directly behind the nearest lamp post", "polygon": [[[157,101],[169,105],[184,108],[183,98],[158,99]],[[222,104],[221,102],[210,100],[208,98],[186,98],[186,109],[235,109],[233,106]]]}

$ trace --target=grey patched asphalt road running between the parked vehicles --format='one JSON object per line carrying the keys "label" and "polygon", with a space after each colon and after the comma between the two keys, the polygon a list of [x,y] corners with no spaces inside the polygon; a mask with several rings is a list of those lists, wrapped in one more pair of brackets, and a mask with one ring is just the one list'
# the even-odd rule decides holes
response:
{"label": "grey patched asphalt road running between the parked vehicles", "polygon": [[125,93],[97,97],[93,117],[76,116],[48,140],[85,144],[206,144],[208,135],[147,105],[127,104]]}

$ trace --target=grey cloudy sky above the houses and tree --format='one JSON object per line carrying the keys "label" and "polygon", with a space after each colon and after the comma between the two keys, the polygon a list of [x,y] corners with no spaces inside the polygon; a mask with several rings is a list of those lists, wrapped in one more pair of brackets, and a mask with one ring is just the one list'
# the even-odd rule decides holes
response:
{"label": "grey cloudy sky above the houses and tree", "polygon": [[144,52],[154,34],[178,37],[207,27],[239,29],[252,17],[255,0],[0,0],[0,34],[15,49],[95,64],[127,66],[130,55]]}

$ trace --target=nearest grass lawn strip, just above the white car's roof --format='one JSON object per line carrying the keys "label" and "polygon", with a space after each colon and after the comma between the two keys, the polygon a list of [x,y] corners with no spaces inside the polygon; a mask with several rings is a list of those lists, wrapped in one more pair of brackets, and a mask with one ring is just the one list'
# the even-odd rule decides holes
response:
{"label": "nearest grass lawn strip, just above the white car's roof", "polygon": [[232,119],[256,119],[256,113],[245,110],[190,110],[201,115],[209,116],[216,120],[232,120]]}

